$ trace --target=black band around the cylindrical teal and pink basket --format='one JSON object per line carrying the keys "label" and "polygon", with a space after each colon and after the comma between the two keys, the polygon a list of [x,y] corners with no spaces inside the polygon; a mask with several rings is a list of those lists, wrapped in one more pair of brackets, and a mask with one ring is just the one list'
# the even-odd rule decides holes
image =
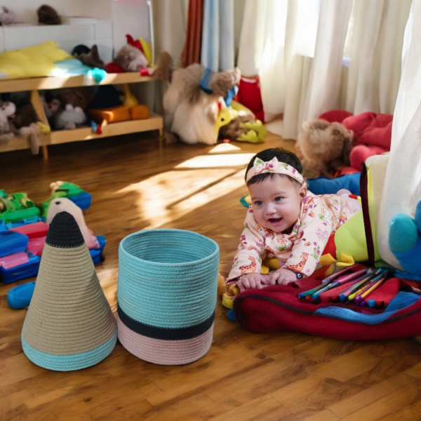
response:
{"label": "black band around the cylindrical teal and pink basket", "polygon": [[119,305],[117,305],[117,313],[119,314],[120,320],[129,329],[133,330],[133,332],[147,336],[148,338],[162,340],[184,340],[196,338],[197,336],[209,330],[210,326],[212,326],[213,321],[215,320],[214,310],[208,319],[197,325],[189,326],[188,328],[159,328],[132,319],[131,316],[128,316],[125,312],[123,312]]}

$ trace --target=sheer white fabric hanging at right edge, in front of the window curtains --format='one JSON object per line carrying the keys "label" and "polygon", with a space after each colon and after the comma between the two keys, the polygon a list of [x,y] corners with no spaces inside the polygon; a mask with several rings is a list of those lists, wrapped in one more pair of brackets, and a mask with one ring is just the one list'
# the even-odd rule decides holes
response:
{"label": "sheer white fabric hanging at right edge, in front of the window curtains", "polygon": [[[402,75],[394,110],[392,147],[387,164],[377,242],[382,259],[399,267],[389,249],[393,215],[415,215],[421,200],[421,0],[413,0],[405,29]],[[414,259],[420,256],[414,255]]]}

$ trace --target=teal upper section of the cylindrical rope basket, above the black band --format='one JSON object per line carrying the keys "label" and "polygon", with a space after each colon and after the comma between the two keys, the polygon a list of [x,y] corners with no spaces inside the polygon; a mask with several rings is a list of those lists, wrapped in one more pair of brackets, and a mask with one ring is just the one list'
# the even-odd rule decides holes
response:
{"label": "teal upper section of the cylindrical rope basket, above the black band", "polygon": [[181,229],[126,236],[119,246],[121,311],[156,328],[203,323],[215,312],[219,254],[215,241]]}

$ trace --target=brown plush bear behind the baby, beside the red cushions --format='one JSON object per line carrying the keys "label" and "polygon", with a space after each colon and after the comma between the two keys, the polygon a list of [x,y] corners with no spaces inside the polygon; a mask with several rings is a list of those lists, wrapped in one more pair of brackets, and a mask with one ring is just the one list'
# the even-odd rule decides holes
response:
{"label": "brown plush bear behind the baby, beside the red cushions", "polygon": [[349,166],[352,131],[340,123],[317,119],[302,124],[303,132],[295,145],[306,178],[333,178],[340,166]]}

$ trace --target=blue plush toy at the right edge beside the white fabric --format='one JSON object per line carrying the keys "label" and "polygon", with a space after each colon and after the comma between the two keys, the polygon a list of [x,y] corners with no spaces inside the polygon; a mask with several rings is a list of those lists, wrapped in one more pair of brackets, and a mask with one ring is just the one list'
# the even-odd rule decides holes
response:
{"label": "blue plush toy at the right edge beside the white fabric", "polygon": [[389,247],[406,273],[396,275],[421,280],[421,201],[415,210],[415,219],[398,213],[390,221]]}

